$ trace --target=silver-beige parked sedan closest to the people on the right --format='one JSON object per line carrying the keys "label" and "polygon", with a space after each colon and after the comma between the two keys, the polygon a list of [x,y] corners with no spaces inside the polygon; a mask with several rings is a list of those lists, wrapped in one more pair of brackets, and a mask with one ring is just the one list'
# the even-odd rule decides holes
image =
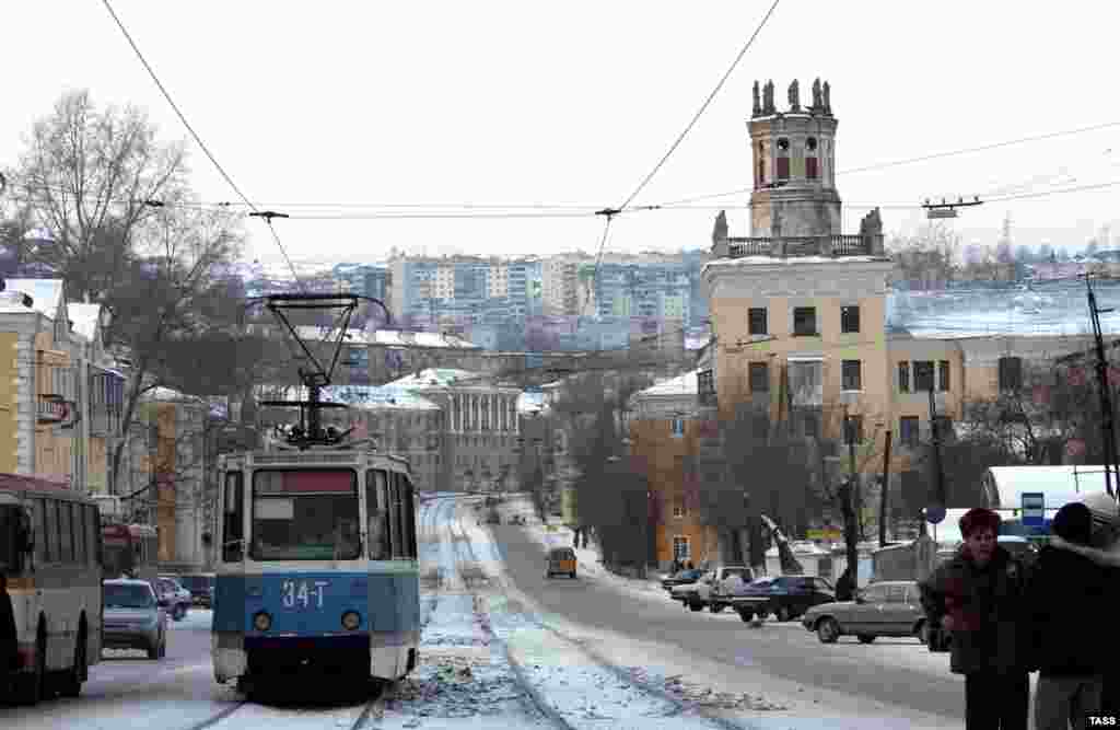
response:
{"label": "silver-beige parked sedan closest to the people on the right", "polygon": [[855,601],[814,606],[801,623],[815,631],[822,644],[855,636],[870,644],[877,636],[916,636],[926,641],[925,612],[915,581],[871,583],[856,593]]}

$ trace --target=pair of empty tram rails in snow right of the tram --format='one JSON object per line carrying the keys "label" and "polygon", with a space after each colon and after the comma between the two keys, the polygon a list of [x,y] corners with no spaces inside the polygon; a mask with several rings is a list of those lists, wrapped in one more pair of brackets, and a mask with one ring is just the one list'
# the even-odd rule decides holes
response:
{"label": "pair of empty tram rails in snow right of the tram", "polygon": [[[469,539],[469,535],[467,530],[463,527],[460,519],[461,519],[460,517],[456,517],[454,520],[454,525],[459,528],[461,537],[459,539],[454,539],[454,527],[452,527],[451,528],[452,544],[456,545],[457,551],[459,551],[460,555],[463,555],[461,552],[463,548],[459,548],[458,546],[463,545],[466,551],[465,555],[467,557],[466,562],[473,566],[480,567],[483,563],[482,561],[478,560],[478,555],[475,552],[474,544]],[[492,532],[491,535],[493,535]],[[487,588],[495,589],[501,594],[501,597],[505,600],[506,606],[523,606],[521,600],[511,597],[510,594],[511,586],[508,584],[508,577],[505,574],[504,570],[498,570],[497,574],[494,576],[487,575],[486,583]],[[476,600],[476,602],[478,601]],[[485,602],[485,600],[483,600],[482,602]],[[552,626],[549,626],[540,618],[534,616],[531,611],[519,610],[517,615],[530,625],[548,632],[549,635],[560,639],[568,646],[572,647],[572,649],[576,653],[587,657],[594,666],[603,669],[604,672],[609,673],[623,684],[634,687],[636,691],[644,693],[648,697],[656,699],[662,703],[671,705],[673,709],[663,715],[665,718],[672,717],[672,718],[681,718],[683,720],[682,715],[691,713],[697,720],[706,721],[710,726],[719,728],[720,730],[748,730],[752,727],[750,724],[743,724],[729,718],[715,714],[708,711],[706,708],[701,706],[699,703],[684,701],[680,697],[674,696],[672,693],[666,692],[663,687],[656,684],[653,684],[651,682],[644,682],[638,677],[635,677],[633,673],[627,668],[614,664],[613,662],[604,657],[595,649],[588,647],[586,645],[586,641],[572,637],[566,631],[561,631]],[[486,611],[486,616],[488,618],[488,611]],[[542,714],[544,714],[558,729],[578,730],[577,727],[569,723],[568,720],[563,718],[563,715],[561,715],[553,708],[553,705],[549,703],[547,699],[536,690],[535,685],[533,685],[533,683],[529,678],[525,667],[517,660],[516,656],[510,648],[508,644],[504,641],[501,637],[498,637],[488,626],[488,623],[484,625],[484,630],[487,632],[488,636],[493,638],[493,640],[497,641],[500,646],[503,648],[503,652],[505,653],[507,660],[510,662],[510,666],[514,669],[514,673],[517,675],[519,683],[521,684],[522,689],[525,690],[526,694],[532,699],[533,704],[536,706],[536,709],[540,710]]]}

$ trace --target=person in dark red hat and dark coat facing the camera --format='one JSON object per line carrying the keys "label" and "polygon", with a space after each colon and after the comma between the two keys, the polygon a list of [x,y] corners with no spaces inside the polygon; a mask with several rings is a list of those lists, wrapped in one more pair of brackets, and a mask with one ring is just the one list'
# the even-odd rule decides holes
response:
{"label": "person in dark red hat and dark coat facing the camera", "polygon": [[965,730],[1027,729],[1027,576],[996,543],[999,524],[989,509],[965,512],[961,549],[920,584],[926,620],[952,635],[950,668],[964,675]]}

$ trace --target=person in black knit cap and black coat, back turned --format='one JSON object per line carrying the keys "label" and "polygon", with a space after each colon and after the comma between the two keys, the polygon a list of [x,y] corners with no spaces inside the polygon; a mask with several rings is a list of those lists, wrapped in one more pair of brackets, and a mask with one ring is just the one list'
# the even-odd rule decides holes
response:
{"label": "person in black knit cap and black coat, back turned", "polygon": [[[1089,545],[1092,528],[1089,507],[1071,502],[1057,510],[1051,530],[1068,543]],[[1086,714],[1101,710],[1110,658],[1099,640],[1099,627],[1108,622],[1104,571],[1089,557],[1047,545],[1038,554],[1027,604],[1038,665],[1035,728],[1080,730]]]}

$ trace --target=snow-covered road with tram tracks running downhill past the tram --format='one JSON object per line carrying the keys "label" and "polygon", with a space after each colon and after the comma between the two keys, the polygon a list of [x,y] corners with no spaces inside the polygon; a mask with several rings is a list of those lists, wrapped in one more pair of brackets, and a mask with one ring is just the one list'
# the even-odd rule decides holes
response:
{"label": "snow-covered road with tram tracks running downhill past the tram", "polygon": [[[166,659],[111,653],[92,668],[81,697],[0,706],[0,727],[840,730],[961,724],[959,680],[948,674],[944,657],[913,643],[824,647],[796,625],[752,628],[734,616],[682,611],[664,595],[620,588],[594,566],[575,581],[549,581],[543,540],[533,528],[479,526],[475,501],[444,497],[420,507],[421,663],[376,700],[330,700],[321,689],[297,687],[296,694],[305,696],[284,704],[246,703],[232,685],[214,683],[211,616],[195,611],[172,625]],[[877,689],[868,690],[871,684]],[[921,694],[928,696],[921,700]]]}

